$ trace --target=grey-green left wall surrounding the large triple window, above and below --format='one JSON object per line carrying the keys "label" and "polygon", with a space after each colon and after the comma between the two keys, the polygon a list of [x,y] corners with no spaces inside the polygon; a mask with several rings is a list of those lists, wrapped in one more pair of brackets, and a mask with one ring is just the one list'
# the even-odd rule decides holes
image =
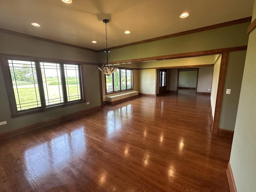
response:
{"label": "grey-green left wall surrounding the large triple window, above and below", "polygon": [[[36,56],[42,58],[93,62],[95,61],[96,55],[94,52],[86,50],[3,33],[0,33],[0,45],[0,53]],[[100,106],[100,82],[98,69],[94,65],[83,65],[83,74],[83,83],[86,90],[85,97],[86,101],[90,102],[89,105],[86,105],[86,102],[84,102],[82,104],[74,104],[71,106],[54,108],[44,112],[12,118],[6,87],[4,84],[2,67],[0,67],[0,122],[7,121],[6,125],[0,126],[0,133],[78,112],[80,110]]]}

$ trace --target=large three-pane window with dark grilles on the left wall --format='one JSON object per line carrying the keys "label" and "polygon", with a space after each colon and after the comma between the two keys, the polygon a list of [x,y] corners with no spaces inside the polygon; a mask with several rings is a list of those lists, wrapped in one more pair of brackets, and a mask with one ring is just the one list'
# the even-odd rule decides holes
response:
{"label": "large three-pane window with dark grilles on the left wall", "polygon": [[80,64],[8,59],[6,70],[13,116],[84,100]]}

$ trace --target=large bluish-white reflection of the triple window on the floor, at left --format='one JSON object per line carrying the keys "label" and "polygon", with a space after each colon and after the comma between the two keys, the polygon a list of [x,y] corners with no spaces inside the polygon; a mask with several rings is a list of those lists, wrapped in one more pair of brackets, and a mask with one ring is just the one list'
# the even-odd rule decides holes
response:
{"label": "large bluish-white reflection of the triple window on the floor, at left", "polygon": [[58,136],[48,142],[24,152],[26,172],[29,182],[35,182],[62,168],[72,156],[79,156],[86,150],[84,128]]}

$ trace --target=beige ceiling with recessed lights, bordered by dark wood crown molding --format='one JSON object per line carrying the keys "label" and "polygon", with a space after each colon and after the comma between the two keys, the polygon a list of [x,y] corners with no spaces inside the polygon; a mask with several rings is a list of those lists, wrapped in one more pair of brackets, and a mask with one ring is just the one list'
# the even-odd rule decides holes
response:
{"label": "beige ceiling with recessed lights, bordered by dark wood crown molding", "polygon": [[[82,46],[119,46],[252,16],[254,0],[0,0],[0,28]],[[180,18],[189,12],[188,18]],[[37,22],[41,27],[31,25]],[[130,30],[130,34],[124,34]],[[74,34],[69,37],[66,34]],[[96,40],[96,44],[92,44]]]}

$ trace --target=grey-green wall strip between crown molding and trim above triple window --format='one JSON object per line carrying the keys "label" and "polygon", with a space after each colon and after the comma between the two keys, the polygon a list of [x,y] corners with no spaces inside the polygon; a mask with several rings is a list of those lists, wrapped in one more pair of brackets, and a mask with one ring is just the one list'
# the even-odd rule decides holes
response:
{"label": "grey-green wall strip between crown molding and trim above triple window", "polygon": [[[0,53],[98,63],[98,53],[0,32]],[[103,60],[104,61],[104,60]]]}

